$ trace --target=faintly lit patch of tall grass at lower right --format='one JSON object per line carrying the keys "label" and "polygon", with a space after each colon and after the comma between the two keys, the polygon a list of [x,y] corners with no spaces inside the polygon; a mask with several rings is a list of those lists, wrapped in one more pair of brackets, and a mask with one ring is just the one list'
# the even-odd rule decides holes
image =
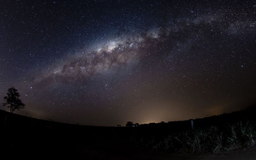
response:
{"label": "faintly lit patch of tall grass at lower right", "polygon": [[255,121],[240,121],[221,127],[188,129],[164,137],[137,137],[138,147],[165,150],[167,152],[223,152],[254,147]]}

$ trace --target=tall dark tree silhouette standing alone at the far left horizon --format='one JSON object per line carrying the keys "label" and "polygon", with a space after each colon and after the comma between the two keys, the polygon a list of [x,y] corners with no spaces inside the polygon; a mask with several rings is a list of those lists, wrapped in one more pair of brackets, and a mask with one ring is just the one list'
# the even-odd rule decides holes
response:
{"label": "tall dark tree silhouette standing alone at the far left horizon", "polygon": [[4,101],[6,101],[5,103],[3,103],[3,106],[7,106],[8,108],[10,108],[10,112],[14,112],[14,110],[20,110],[21,108],[25,108],[25,104],[22,103],[22,101],[20,100],[20,94],[19,92],[17,92],[17,89],[15,89],[14,87],[11,87],[10,89],[8,89],[8,92],[6,93],[7,96],[4,96]]}

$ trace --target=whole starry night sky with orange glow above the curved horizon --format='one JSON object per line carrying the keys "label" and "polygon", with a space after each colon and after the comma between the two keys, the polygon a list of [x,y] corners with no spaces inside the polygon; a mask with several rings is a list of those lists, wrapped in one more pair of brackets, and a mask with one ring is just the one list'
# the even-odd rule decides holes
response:
{"label": "whole starry night sky with orange glow above the curved horizon", "polygon": [[232,112],[256,102],[256,1],[0,1],[0,55],[0,97],[17,88],[29,117]]}

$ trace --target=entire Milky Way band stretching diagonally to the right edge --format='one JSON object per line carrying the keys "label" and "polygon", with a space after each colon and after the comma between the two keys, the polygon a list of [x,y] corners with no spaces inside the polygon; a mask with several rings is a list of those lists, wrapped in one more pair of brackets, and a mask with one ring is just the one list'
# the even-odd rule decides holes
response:
{"label": "entire Milky Way band stretching diagonally to the right edge", "polygon": [[[42,75],[42,78],[36,79],[36,81],[39,83],[45,81],[50,84],[54,82],[83,82],[90,78],[90,76],[102,75],[116,71],[122,66],[136,64],[141,58],[145,58],[144,56],[148,55],[149,48],[156,50],[161,45],[170,45],[168,49],[172,51],[172,45],[177,45],[179,43],[176,42],[180,41],[179,37],[175,39],[173,36],[184,34],[186,31],[191,31],[191,33],[188,33],[185,38],[182,37],[182,41],[184,39],[189,41],[194,39],[195,36],[198,39],[205,38],[204,35],[208,32],[214,34],[213,29],[218,29],[218,31],[228,34],[228,36],[237,36],[237,34],[245,34],[244,36],[246,36],[255,32],[256,21],[237,19],[233,20],[234,22],[228,21],[225,23],[224,16],[218,13],[214,15],[201,15],[193,19],[180,19],[179,23],[174,24],[174,26],[164,26],[144,31],[143,34],[123,35],[116,37],[116,40],[107,40],[106,43],[103,43],[103,45],[95,50],[87,50],[78,55],[74,54],[73,57],[69,57],[64,62],[61,62],[61,64],[58,64],[58,67],[47,70],[47,73]],[[202,29],[202,25],[211,28],[211,31]],[[195,41],[190,43],[195,43]],[[186,49],[189,50],[189,47]],[[157,50],[157,52],[159,51]],[[172,54],[170,55],[172,56]]]}

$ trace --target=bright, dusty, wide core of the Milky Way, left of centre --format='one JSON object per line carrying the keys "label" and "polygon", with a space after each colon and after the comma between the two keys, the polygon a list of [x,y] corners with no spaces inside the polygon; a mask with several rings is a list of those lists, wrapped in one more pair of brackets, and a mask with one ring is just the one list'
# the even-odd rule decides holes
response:
{"label": "bright, dusty, wide core of the Milky Way, left of centre", "polygon": [[90,76],[102,75],[115,71],[122,66],[132,65],[145,54],[143,50],[148,48],[148,45],[145,44],[145,41],[148,40],[156,43],[158,38],[154,38],[149,34],[145,37],[131,36],[109,41],[102,47],[97,48],[97,50],[88,51],[83,53],[84,55],[76,55],[68,59],[57,68],[43,75],[42,80],[47,80],[49,83],[81,82],[86,81]]}

